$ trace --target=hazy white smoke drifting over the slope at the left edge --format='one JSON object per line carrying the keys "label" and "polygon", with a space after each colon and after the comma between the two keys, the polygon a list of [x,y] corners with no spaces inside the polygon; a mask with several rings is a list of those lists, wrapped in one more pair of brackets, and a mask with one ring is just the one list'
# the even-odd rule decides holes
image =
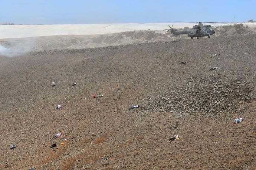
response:
{"label": "hazy white smoke drifting over the slope at the left edge", "polygon": [[0,56],[16,57],[32,51],[35,47],[35,41],[10,41],[7,44],[8,47],[0,45]]}

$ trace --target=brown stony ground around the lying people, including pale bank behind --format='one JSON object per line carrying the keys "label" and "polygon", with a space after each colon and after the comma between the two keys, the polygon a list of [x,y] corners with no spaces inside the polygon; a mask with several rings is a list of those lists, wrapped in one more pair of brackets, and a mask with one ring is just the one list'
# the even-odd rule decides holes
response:
{"label": "brown stony ground around the lying people, including pale bank behind", "polygon": [[256,169],[253,29],[198,40],[94,35],[84,46],[81,35],[42,37],[28,53],[0,56],[0,169]]}

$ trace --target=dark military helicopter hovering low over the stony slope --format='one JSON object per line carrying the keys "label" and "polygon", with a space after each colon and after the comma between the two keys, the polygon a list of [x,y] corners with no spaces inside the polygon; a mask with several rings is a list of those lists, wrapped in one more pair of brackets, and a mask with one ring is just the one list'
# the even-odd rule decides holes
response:
{"label": "dark military helicopter hovering low over the stony slope", "polygon": [[[194,22],[184,22],[184,23],[194,23]],[[216,23],[216,22],[207,22],[207,23]],[[210,25],[204,26],[203,24],[204,23],[200,21],[193,28],[190,28],[188,30],[182,30],[182,31],[178,31],[177,29],[174,29],[173,25],[171,27],[168,25],[170,29],[167,32],[171,31],[171,33],[174,35],[187,34],[188,37],[190,37],[191,39],[193,39],[193,37],[196,37],[198,39],[199,37],[204,37],[204,36],[208,36],[208,38],[210,38],[210,35],[215,34],[215,31],[211,29]]]}

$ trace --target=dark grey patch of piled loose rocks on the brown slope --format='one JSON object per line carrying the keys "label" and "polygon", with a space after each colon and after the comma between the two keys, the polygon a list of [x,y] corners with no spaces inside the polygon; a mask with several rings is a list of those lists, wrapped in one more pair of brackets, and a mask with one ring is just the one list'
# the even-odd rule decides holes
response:
{"label": "dark grey patch of piled loose rocks on the brown slope", "polygon": [[[195,82],[194,78],[191,79]],[[201,82],[193,85],[188,84],[184,88],[177,86],[165,92],[164,95],[153,98],[145,108],[150,112],[171,112],[177,119],[194,113],[204,113],[203,115],[211,117],[210,114],[205,113],[233,113],[237,110],[237,102],[251,102],[253,100],[252,93],[240,93],[233,90],[238,88],[236,82],[226,83],[225,80],[220,81],[213,75],[207,76],[206,79],[212,81],[214,86],[211,83],[201,84]],[[250,92],[249,87],[243,90]],[[228,91],[231,93],[227,93]]]}

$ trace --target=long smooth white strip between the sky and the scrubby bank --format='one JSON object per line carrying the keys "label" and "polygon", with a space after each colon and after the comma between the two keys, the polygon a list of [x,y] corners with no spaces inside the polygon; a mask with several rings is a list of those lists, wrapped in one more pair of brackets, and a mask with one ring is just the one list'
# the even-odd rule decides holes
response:
{"label": "long smooth white strip between the sky and the scrubby bank", "polygon": [[[0,25],[0,39],[25,38],[52,35],[110,34],[135,30],[164,30],[173,23],[151,24],[66,24],[66,25]],[[233,25],[214,23],[212,26]],[[255,24],[255,23],[245,23]],[[193,23],[174,23],[173,28],[193,27]]]}

